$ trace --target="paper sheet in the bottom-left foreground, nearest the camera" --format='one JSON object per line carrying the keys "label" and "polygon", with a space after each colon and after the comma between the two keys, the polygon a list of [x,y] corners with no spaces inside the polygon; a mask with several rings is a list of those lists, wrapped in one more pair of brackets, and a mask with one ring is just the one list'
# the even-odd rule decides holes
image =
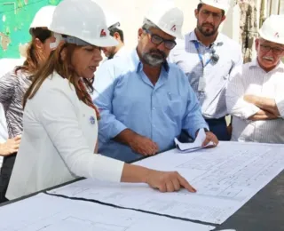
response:
{"label": "paper sheet in the bottom-left foreground, nearest the camera", "polygon": [[214,228],[43,194],[0,207],[0,217],[1,231],[209,231]]}

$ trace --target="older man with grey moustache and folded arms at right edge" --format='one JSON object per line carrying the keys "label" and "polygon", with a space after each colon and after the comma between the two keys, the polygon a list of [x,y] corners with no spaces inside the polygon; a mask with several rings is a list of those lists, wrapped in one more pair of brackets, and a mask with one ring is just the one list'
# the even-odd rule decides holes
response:
{"label": "older man with grey moustache and folded arms at right edge", "polygon": [[232,140],[284,143],[284,15],[264,21],[256,39],[257,58],[243,65],[228,84]]}

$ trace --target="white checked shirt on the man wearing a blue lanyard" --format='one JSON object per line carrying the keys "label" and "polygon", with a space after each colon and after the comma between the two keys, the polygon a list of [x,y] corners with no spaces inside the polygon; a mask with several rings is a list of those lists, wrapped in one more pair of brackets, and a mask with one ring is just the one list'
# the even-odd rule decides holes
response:
{"label": "white checked shirt on the man wearing a blue lanyard", "polygon": [[[198,42],[199,51],[205,64],[210,60],[214,49],[219,57],[217,63],[212,59],[203,68],[195,44]],[[225,106],[225,90],[233,68],[242,65],[241,46],[229,37],[219,33],[215,42],[209,47],[198,41],[195,32],[185,35],[184,40],[177,40],[177,46],[170,52],[170,61],[176,63],[188,77],[201,103],[202,115],[206,119],[220,118],[227,115]],[[205,87],[199,91],[199,81],[204,77]]]}

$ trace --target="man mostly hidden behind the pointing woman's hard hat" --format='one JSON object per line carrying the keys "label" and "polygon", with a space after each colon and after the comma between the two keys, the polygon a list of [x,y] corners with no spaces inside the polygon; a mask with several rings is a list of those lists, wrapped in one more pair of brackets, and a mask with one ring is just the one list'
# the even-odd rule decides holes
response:
{"label": "man mostly hidden behind the pointing woman's hard hat", "polygon": [[125,53],[124,35],[121,28],[121,22],[113,13],[106,12],[106,24],[110,36],[113,36],[118,42],[115,46],[104,47],[101,49],[107,60],[111,60],[113,58],[120,57]]}

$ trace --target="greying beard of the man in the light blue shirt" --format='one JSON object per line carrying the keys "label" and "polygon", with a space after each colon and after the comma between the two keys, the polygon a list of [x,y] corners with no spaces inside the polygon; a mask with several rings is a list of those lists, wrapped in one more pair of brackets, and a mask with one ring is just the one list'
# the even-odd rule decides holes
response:
{"label": "greying beard of the man in the light blue shirt", "polygon": [[158,49],[151,49],[149,52],[142,53],[142,59],[151,67],[157,68],[166,60],[167,55]]}

